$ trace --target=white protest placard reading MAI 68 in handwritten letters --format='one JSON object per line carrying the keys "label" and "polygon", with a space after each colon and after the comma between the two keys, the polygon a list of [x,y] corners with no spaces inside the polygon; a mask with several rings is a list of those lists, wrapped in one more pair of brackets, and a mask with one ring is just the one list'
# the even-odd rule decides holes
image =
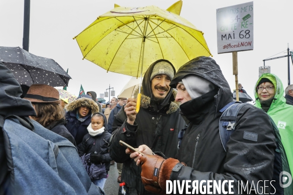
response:
{"label": "white protest placard reading MAI 68 in handwritten letters", "polygon": [[253,50],[253,1],[217,9],[218,54]]}

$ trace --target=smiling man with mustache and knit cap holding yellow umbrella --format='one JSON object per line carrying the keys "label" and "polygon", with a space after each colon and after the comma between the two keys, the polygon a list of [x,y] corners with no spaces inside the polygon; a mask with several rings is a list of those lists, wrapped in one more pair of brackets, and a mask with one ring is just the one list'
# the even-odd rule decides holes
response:
{"label": "smiling man with mustache and knit cap holding yellow umbrella", "polygon": [[112,129],[116,131],[109,143],[110,156],[115,162],[123,163],[122,181],[129,186],[130,195],[152,193],[145,190],[141,167],[125,153],[120,140],[133,147],[145,144],[168,157],[177,156],[178,132],[185,127],[185,121],[179,116],[180,103],[175,101],[177,92],[169,86],[174,74],[175,68],[168,60],[152,63],[142,82],[139,112],[135,111],[136,99],[128,98],[114,119]]}

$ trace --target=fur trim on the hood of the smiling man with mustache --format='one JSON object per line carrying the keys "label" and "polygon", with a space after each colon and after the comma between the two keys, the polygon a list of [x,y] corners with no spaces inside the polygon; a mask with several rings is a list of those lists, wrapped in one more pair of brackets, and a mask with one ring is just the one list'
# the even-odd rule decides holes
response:
{"label": "fur trim on the hood of the smiling man with mustache", "polygon": [[[174,90],[173,88],[171,88],[172,90],[172,96],[174,97],[174,99],[176,98],[176,95],[177,95],[177,91]],[[137,94],[138,94],[138,88],[136,88],[133,92],[133,96],[134,98],[137,98]],[[142,108],[147,108],[150,104],[150,97],[144,95],[144,90],[143,88],[141,88],[141,103],[140,103],[140,106]],[[169,109],[168,111],[166,112],[166,114],[171,114],[173,112],[176,112],[177,109],[179,108],[180,106],[180,102],[174,100],[174,101],[171,101],[170,103],[170,106],[169,106]]]}

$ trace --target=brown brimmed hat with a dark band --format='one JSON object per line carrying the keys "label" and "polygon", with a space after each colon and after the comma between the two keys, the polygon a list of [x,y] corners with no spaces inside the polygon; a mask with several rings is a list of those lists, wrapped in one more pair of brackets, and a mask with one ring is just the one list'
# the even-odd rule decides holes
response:
{"label": "brown brimmed hat with a dark band", "polygon": [[24,99],[37,103],[60,104],[58,90],[44,84],[31,85]]}

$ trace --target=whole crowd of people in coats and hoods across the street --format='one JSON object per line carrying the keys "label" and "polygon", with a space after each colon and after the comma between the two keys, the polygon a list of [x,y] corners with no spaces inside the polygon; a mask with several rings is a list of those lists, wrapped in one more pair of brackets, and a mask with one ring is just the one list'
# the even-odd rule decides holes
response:
{"label": "whole crowd of people in coats and hoods across the street", "polygon": [[[240,83],[238,90],[246,93]],[[157,60],[150,64],[144,75],[139,112],[136,111],[137,94],[134,92],[135,98],[111,98],[103,107],[96,101],[94,91],[68,102],[49,85],[33,84],[24,90],[11,71],[0,63],[2,194],[18,192],[15,189],[24,185],[18,177],[25,176],[18,174],[21,172],[17,169],[21,168],[17,162],[21,156],[15,155],[25,151],[18,149],[18,144],[12,141],[15,133],[11,133],[14,131],[12,126],[7,126],[9,122],[29,130],[29,134],[33,134],[27,137],[31,142],[38,131],[53,132],[49,136],[39,133],[38,137],[52,146],[53,156],[58,160],[62,148],[74,149],[71,150],[74,155],[64,154],[63,161],[70,164],[66,171],[79,177],[79,181],[68,182],[68,188],[76,194],[81,192],[77,193],[75,186],[81,184],[84,186],[81,194],[104,194],[101,189],[114,162],[119,174],[117,181],[125,182],[129,195],[166,194],[167,180],[232,180],[234,187],[223,183],[223,188],[230,188],[234,194],[239,193],[239,183],[248,184],[249,188],[257,183],[255,192],[292,194],[277,186],[279,181],[272,185],[259,184],[259,181],[271,181],[279,176],[283,168],[277,170],[276,161],[287,161],[287,170],[293,169],[293,85],[284,90],[281,80],[270,73],[258,78],[254,105],[240,104],[235,123],[225,126],[227,130],[233,129],[227,144],[219,135],[219,121],[235,100],[220,66],[212,58],[192,59],[177,72],[170,61]],[[58,137],[52,138],[55,134],[61,136],[61,141],[57,141]],[[276,159],[276,153],[280,153],[276,141],[278,134],[285,150],[282,159]],[[25,136],[17,139],[27,141]],[[126,149],[120,144],[121,140],[144,155]],[[61,142],[63,145],[58,145]],[[50,157],[38,151],[35,153],[31,156],[36,160],[34,164],[44,161],[58,173],[62,163],[52,165],[53,161],[48,160]],[[33,178],[33,173],[26,174]],[[44,177],[38,178],[40,182],[46,174],[44,170]],[[47,194],[54,194],[53,188],[58,189],[59,184],[50,181],[53,179],[46,178],[48,188],[52,188]],[[71,178],[61,179],[67,182]],[[184,188],[191,192],[194,186]],[[202,188],[209,188],[209,184],[205,182]],[[27,184],[16,194],[28,192],[38,194],[40,191]],[[245,193],[249,194],[248,191]]]}

